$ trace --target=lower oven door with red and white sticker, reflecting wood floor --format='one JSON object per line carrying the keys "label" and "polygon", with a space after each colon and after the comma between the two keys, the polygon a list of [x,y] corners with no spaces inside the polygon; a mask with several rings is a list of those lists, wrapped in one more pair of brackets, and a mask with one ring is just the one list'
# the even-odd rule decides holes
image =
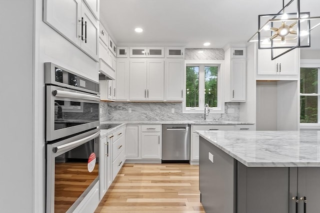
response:
{"label": "lower oven door with red and white sticker, reflecting wood floor", "polygon": [[72,212],[99,180],[100,130],[46,145],[46,213]]}

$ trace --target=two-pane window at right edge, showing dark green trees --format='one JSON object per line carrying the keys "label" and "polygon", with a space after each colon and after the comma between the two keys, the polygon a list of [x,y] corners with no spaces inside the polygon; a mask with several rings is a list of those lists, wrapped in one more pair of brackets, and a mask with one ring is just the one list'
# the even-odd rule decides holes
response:
{"label": "two-pane window at right edge, showing dark green trees", "polygon": [[300,123],[319,123],[319,68],[300,68]]}

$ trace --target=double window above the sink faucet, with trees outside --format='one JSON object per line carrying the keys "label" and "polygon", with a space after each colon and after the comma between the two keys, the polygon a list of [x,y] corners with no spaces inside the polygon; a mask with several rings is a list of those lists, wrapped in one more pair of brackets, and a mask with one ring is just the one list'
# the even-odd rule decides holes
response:
{"label": "double window above the sink faucet, with trees outside", "polygon": [[222,61],[185,61],[183,112],[203,113],[205,104],[211,112],[224,112],[220,91],[222,65]]}

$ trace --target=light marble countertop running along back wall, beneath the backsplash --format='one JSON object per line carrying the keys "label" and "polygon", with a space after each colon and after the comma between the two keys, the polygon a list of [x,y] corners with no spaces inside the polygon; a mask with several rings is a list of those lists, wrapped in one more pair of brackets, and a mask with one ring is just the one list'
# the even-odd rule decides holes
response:
{"label": "light marble countertop running along back wall, beneath the backsplash", "polygon": [[111,120],[111,121],[101,121],[101,124],[121,124],[111,129],[101,129],[101,137],[105,137],[108,134],[115,132],[116,130],[124,127],[125,125],[139,125],[139,124],[190,124],[190,125],[253,125],[254,123],[241,122],[241,121],[165,121],[165,120]]}

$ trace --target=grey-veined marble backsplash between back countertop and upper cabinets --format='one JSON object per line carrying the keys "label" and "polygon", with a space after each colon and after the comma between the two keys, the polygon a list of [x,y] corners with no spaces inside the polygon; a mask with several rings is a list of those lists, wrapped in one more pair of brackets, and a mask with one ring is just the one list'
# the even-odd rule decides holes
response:
{"label": "grey-veined marble backsplash between back countertop and upper cabinets", "polygon": [[[182,113],[180,102],[100,102],[100,121],[108,120],[203,120],[203,113]],[[131,113],[128,109],[131,108]],[[171,109],[174,108],[174,113]],[[210,113],[208,121],[239,120],[239,103],[225,103],[224,109],[233,108],[234,113]]]}

